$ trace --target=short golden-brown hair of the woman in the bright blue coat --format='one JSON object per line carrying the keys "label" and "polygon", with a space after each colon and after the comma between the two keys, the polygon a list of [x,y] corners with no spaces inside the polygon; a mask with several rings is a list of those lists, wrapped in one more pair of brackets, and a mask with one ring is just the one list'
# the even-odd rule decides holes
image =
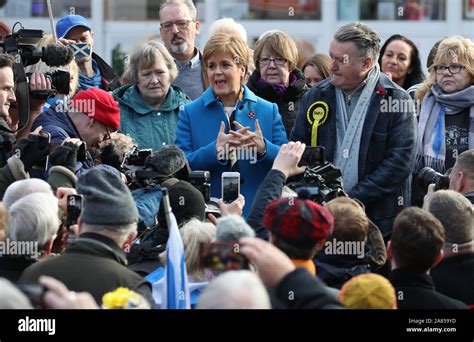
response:
{"label": "short golden-brown hair of the woman in the bright blue coat", "polygon": [[215,55],[231,55],[235,64],[245,67],[247,72],[250,63],[250,49],[240,35],[216,33],[206,43],[202,59],[207,68],[207,62]]}

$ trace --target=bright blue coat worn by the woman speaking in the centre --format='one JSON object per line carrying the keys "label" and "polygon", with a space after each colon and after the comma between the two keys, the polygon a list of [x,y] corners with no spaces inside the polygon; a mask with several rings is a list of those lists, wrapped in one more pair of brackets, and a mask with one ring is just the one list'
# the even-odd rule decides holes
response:
{"label": "bright blue coat worn by the woman speaking in the centre", "polygon": [[[278,107],[256,96],[244,86],[242,100],[236,106],[235,120],[255,131],[259,120],[267,152],[263,158],[249,153],[247,160],[238,161],[240,176],[244,179],[240,192],[245,197],[244,215],[248,216],[255,193],[267,172],[271,169],[280,146],[287,142],[285,128]],[[229,121],[222,103],[216,99],[209,87],[199,98],[189,103],[179,113],[176,145],[186,154],[192,170],[207,170],[211,173],[211,196],[221,197],[222,172],[230,171],[228,161],[219,161],[216,153],[216,138],[221,122],[229,132]]]}

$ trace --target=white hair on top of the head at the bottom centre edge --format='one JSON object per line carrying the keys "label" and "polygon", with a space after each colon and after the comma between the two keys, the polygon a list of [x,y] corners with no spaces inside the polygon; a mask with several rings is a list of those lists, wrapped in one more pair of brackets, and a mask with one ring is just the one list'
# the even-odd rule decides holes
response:
{"label": "white hair on top of the head at the bottom centre edge", "polygon": [[270,298],[260,278],[247,270],[228,271],[206,286],[198,309],[271,309]]}

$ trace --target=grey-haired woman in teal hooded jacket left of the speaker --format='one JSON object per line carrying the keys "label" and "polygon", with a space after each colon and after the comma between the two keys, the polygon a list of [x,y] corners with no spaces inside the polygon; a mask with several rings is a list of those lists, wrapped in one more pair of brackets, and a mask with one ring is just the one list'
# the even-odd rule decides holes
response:
{"label": "grey-haired woman in teal hooded jacket left of the speaker", "polygon": [[113,92],[120,107],[120,132],[141,149],[174,143],[178,113],[189,99],[171,85],[178,76],[173,57],[163,44],[148,41],[132,52],[126,74],[132,84]]}

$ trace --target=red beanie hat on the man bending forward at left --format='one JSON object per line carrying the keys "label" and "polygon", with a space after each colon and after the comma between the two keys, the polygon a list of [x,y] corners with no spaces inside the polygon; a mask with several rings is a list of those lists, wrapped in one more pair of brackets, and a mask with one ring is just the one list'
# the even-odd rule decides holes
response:
{"label": "red beanie hat on the man bending forward at left", "polygon": [[74,110],[90,116],[97,122],[115,130],[120,128],[120,109],[112,94],[99,88],[89,88],[71,100]]}

